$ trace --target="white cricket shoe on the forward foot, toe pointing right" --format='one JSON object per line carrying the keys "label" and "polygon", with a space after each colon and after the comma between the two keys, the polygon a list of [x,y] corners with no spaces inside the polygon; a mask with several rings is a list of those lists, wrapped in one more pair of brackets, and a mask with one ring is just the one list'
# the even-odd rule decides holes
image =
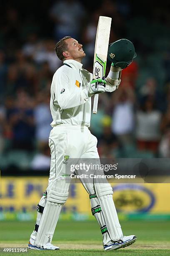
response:
{"label": "white cricket shoe on the forward foot, toe pointing right", "polygon": [[123,236],[118,241],[110,241],[104,246],[104,250],[117,250],[120,248],[124,248],[126,246],[130,246],[131,244],[135,243],[137,237],[134,235],[131,236]]}

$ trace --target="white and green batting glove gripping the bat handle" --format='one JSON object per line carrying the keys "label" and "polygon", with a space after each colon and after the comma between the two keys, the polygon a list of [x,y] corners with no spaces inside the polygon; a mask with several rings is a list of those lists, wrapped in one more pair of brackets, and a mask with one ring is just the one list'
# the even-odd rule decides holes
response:
{"label": "white and green batting glove gripping the bat handle", "polygon": [[102,79],[95,79],[88,84],[88,96],[91,97],[96,93],[105,92],[106,81]]}

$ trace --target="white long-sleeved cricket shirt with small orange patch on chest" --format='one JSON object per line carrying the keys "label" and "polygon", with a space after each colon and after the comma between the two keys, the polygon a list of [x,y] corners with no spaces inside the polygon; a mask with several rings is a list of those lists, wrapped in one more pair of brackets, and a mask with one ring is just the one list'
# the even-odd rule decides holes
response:
{"label": "white long-sleeved cricket shirt with small orange patch on chest", "polygon": [[[69,59],[57,69],[51,84],[50,110],[51,126],[59,124],[90,126],[91,97],[88,97],[87,83],[92,74],[82,68],[78,61]],[[115,89],[107,84],[107,91]]]}

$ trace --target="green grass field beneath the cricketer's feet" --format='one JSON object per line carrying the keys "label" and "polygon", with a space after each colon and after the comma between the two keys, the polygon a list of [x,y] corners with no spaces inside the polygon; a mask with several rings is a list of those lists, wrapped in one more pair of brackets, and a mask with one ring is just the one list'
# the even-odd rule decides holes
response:
{"label": "green grass field beneath the cricketer's feet", "polygon": [[[103,251],[100,228],[94,221],[74,222],[60,221],[57,225],[53,244],[60,247],[60,251],[33,251],[29,255],[60,256],[140,256],[140,255],[170,255],[170,222],[165,221],[122,221],[122,230],[125,235],[136,235],[138,240],[128,248],[117,251]],[[0,222],[0,247],[26,247],[33,222],[2,221]],[[25,253],[2,253],[0,255],[25,255]]]}

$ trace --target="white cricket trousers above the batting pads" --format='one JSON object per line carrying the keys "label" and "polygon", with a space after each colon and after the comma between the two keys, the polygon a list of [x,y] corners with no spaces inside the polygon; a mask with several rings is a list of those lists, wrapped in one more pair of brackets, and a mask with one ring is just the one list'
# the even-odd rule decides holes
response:
{"label": "white cricket trousers above the batting pads", "polygon": [[50,132],[49,146],[51,166],[48,185],[55,178],[66,174],[65,168],[69,160],[65,161],[65,156],[69,156],[69,159],[99,159],[97,138],[85,125],[54,126]]}

